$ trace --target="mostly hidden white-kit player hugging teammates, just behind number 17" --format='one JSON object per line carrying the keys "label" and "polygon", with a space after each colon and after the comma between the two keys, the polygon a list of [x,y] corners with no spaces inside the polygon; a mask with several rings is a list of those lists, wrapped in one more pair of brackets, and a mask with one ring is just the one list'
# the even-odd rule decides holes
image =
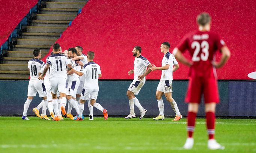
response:
{"label": "mostly hidden white-kit player hugging teammates, just behind number 17", "polygon": [[[83,54],[83,47],[81,46],[76,46],[75,49],[77,49],[77,55],[78,57],[74,57],[72,58],[72,60],[81,60],[81,62],[83,62],[83,64],[87,64],[88,61],[87,61],[87,56],[85,54]],[[85,76],[82,75],[80,77],[80,84],[79,84],[79,87],[77,89],[77,102],[78,104],[80,104],[80,97],[81,97],[81,93],[82,93],[82,90],[83,90],[83,87],[84,87],[84,78]],[[87,101],[87,105],[88,105],[88,108],[89,108],[89,120],[93,120],[93,106],[90,104],[90,100]]]}

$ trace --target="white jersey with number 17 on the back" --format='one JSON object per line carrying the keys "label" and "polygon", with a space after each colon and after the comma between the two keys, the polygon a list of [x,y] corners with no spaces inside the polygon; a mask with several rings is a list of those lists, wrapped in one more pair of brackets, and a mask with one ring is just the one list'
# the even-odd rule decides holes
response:
{"label": "white jersey with number 17 on the back", "polygon": [[101,68],[93,61],[83,66],[81,72],[85,75],[84,89],[99,89],[98,80]]}

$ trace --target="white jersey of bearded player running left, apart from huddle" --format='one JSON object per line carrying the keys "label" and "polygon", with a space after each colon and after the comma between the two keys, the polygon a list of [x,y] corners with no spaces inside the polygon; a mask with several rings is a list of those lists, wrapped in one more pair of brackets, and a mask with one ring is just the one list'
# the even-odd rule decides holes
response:
{"label": "white jersey of bearded player running left, apart from huddle", "polygon": [[[143,57],[142,55],[135,58],[134,64],[133,64],[133,66],[134,66],[134,80],[139,81],[138,76],[143,75],[146,72],[148,65],[150,65],[150,62],[147,60],[147,58]],[[141,81],[145,82],[146,77],[144,77]]]}

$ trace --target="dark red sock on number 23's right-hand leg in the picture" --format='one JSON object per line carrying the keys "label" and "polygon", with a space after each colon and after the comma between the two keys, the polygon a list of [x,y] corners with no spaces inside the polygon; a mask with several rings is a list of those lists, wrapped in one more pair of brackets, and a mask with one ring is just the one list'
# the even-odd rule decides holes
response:
{"label": "dark red sock on number 23's right-hand leg in the picture", "polygon": [[206,112],[206,126],[209,139],[214,139],[215,133],[215,114],[213,112]]}

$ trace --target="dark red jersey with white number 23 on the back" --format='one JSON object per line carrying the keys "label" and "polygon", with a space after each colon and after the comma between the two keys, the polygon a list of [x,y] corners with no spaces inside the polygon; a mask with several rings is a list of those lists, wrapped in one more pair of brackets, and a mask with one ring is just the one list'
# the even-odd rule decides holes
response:
{"label": "dark red jersey with white number 23 on the back", "polygon": [[197,30],[187,34],[177,48],[181,52],[188,50],[192,57],[193,65],[190,67],[190,77],[217,78],[211,62],[215,60],[216,51],[220,51],[224,45],[225,42],[217,34]]}

